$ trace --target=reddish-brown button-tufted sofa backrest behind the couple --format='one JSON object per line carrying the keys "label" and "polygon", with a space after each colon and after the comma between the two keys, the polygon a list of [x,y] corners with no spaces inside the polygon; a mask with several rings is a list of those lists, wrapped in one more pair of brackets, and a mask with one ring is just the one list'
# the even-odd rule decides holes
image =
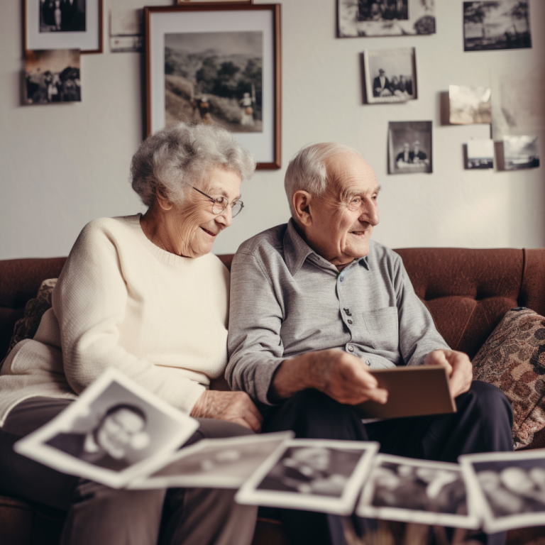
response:
{"label": "reddish-brown button-tufted sofa backrest behind the couple", "polygon": [[[545,249],[396,251],[448,346],[470,358],[512,307],[529,307],[545,315]],[[233,255],[219,258],[231,268]],[[0,360],[26,302],[35,297],[43,280],[60,274],[65,260],[0,261]]]}

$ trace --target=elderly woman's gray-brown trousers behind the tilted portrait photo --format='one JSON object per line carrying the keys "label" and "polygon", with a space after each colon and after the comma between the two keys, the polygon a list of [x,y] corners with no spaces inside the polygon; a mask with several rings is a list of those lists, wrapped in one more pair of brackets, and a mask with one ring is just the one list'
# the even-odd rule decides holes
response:
{"label": "elderly woman's gray-brown trousers behind the tilted portrait photo", "polygon": [[[257,507],[238,505],[236,490],[114,490],[65,475],[13,451],[13,444],[65,409],[70,400],[33,397],[0,429],[0,494],[67,510],[61,545],[247,545]],[[199,419],[187,441],[251,434],[238,424]]]}

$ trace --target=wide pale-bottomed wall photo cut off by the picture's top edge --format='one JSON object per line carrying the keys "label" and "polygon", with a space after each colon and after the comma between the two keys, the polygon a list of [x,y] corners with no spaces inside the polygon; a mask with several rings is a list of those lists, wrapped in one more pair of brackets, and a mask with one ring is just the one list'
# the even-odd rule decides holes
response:
{"label": "wide pale-bottomed wall photo cut off by the picture's top edge", "polygon": [[435,33],[435,0],[337,0],[339,38]]}

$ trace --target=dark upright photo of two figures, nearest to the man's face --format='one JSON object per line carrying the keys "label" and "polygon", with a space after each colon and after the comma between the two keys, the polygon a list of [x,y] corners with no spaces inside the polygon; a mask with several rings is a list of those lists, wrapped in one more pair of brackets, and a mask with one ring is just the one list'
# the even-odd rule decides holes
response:
{"label": "dark upright photo of two figures, nearest to the man's face", "polygon": [[388,174],[433,172],[431,121],[388,123]]}

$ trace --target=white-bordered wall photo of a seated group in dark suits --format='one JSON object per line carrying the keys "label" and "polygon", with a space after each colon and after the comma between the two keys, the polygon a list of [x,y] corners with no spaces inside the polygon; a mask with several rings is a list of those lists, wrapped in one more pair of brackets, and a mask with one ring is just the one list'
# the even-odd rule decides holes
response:
{"label": "white-bordered wall photo of a seated group in dark suits", "polygon": [[365,96],[369,104],[417,98],[414,48],[365,50]]}

